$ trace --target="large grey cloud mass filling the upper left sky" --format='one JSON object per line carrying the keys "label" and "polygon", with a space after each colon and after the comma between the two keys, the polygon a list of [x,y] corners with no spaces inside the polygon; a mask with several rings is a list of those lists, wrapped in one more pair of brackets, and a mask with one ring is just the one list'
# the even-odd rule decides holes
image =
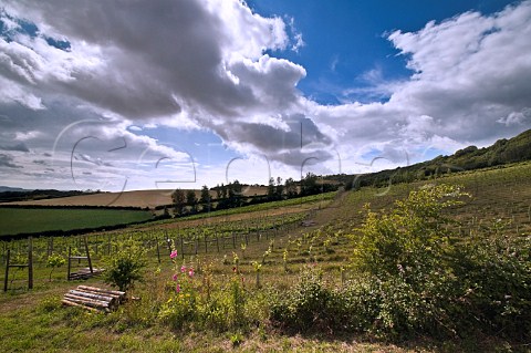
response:
{"label": "large grey cloud mass filling the upper left sky", "polygon": [[7,1],[3,20],[11,23],[10,40],[0,40],[6,103],[43,111],[53,102],[65,112],[84,105],[114,122],[207,127],[232,147],[254,146],[268,126],[282,138],[277,123],[303,113],[295,86],[304,69],[264,53],[299,49],[302,35],[290,23],[290,39],[282,19],[240,1]]}

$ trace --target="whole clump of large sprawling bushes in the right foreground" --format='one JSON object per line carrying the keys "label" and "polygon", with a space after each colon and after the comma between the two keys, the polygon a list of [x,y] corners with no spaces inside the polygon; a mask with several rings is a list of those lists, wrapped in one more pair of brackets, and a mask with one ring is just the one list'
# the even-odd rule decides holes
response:
{"label": "whole clump of large sprawling bushes in the right foreground", "polygon": [[355,295],[345,294],[355,328],[393,338],[529,335],[530,239],[503,237],[494,224],[481,239],[451,245],[457,235],[444,209],[464,195],[452,186],[428,187],[387,214],[367,214],[353,257],[363,274],[351,285]]}

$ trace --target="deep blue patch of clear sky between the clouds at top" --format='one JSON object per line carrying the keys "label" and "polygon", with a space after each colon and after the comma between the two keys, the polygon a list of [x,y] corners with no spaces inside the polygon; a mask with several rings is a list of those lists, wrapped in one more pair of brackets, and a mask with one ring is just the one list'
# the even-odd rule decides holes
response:
{"label": "deep blue patch of clear sky between the clouds at top", "polygon": [[[395,30],[418,31],[429,21],[442,20],[466,11],[492,13],[512,1],[248,1],[251,9],[264,15],[293,19],[294,30],[302,33],[304,45],[296,52],[272,54],[296,62],[308,76],[299,89],[322,104],[341,104],[342,100],[372,102],[375,96],[363,92],[342,96],[345,89],[369,87],[367,73],[375,79],[407,80],[412,71],[406,58],[385,39]],[[379,97],[382,100],[388,96]]]}

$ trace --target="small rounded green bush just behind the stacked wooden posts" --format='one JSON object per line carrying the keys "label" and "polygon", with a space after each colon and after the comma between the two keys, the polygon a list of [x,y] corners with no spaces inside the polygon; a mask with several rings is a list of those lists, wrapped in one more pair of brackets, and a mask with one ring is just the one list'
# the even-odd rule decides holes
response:
{"label": "small rounded green bush just behind the stacked wooden posts", "polygon": [[117,243],[118,251],[106,258],[103,278],[106,283],[121,291],[129,290],[136,281],[143,280],[146,267],[146,250],[132,238]]}

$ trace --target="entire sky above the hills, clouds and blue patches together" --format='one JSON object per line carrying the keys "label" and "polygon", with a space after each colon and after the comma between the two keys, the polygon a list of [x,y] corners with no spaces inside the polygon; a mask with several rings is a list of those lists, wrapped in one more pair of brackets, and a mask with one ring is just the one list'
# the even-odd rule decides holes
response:
{"label": "entire sky above the hills, clouds and blue patches together", "polygon": [[1,0],[0,185],[406,166],[531,128],[531,1]]}

